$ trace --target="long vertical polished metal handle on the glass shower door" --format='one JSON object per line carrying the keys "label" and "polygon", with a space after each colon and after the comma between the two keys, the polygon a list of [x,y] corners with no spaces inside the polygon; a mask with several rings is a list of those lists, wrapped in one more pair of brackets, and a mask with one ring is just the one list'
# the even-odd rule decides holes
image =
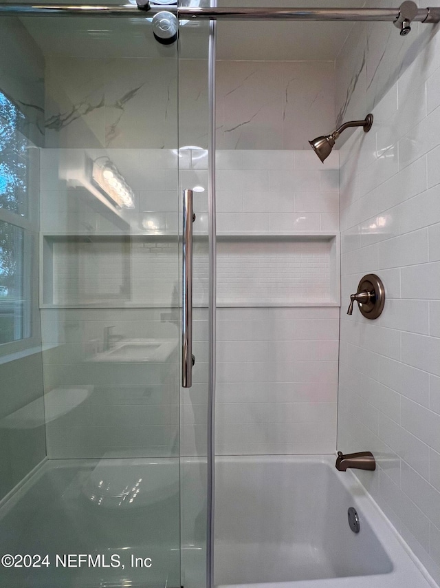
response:
{"label": "long vertical polished metal handle on the glass shower door", "polygon": [[183,206],[183,264],[182,264],[182,347],[181,347],[181,385],[192,386],[192,190],[184,190]]}

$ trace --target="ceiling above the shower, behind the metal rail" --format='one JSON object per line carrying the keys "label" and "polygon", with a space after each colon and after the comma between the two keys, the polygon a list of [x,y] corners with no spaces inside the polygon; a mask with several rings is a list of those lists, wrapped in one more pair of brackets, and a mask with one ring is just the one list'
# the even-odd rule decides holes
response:
{"label": "ceiling above the shower, behind the metal rail", "polygon": [[[363,4],[364,0],[356,3],[353,0],[273,0],[271,6],[353,8]],[[267,6],[267,0],[219,0],[218,6],[263,8]],[[144,19],[100,16],[90,19],[25,17],[21,20],[44,54],[109,59],[117,56],[176,56],[175,45],[159,45],[153,38],[151,22]],[[218,21],[217,59],[334,61],[352,26],[350,22]],[[181,56],[205,59],[208,54],[207,38],[207,21],[186,23],[181,27]]]}

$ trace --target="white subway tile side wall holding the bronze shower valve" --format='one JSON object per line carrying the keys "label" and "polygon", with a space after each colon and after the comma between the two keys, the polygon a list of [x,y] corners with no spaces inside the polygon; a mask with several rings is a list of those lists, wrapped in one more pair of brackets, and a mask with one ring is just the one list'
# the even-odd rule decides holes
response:
{"label": "white subway tile side wall holding the bronze shower valve", "polygon": [[374,322],[342,308],[338,414],[338,449],[375,454],[358,475],[437,582],[439,55],[437,35],[340,150],[342,301],[373,272],[386,302]]}

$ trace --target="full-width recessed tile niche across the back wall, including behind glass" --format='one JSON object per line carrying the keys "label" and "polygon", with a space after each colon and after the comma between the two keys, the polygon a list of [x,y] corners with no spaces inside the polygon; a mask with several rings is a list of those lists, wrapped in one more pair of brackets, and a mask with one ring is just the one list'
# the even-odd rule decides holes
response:
{"label": "full-width recessed tile niche across the back wall, including behind glass", "polygon": [[[219,306],[338,306],[338,235],[219,235]],[[45,235],[42,308],[177,307],[177,235]],[[208,301],[208,238],[195,235],[193,304]]]}

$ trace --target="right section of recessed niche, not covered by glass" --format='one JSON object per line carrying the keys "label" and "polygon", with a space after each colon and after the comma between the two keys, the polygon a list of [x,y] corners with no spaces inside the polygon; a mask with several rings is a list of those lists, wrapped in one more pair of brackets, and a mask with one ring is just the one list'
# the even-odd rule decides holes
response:
{"label": "right section of recessed niche, not covered by glass", "polygon": [[219,306],[339,304],[336,235],[217,238]]}

